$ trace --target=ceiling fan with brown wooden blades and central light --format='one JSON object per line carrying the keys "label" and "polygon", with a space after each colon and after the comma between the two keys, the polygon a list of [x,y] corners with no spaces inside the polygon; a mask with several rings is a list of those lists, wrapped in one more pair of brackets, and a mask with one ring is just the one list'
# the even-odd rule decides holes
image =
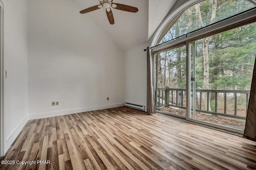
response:
{"label": "ceiling fan with brown wooden blades and central light", "polygon": [[112,13],[112,10],[110,9],[110,7],[117,9],[117,10],[122,10],[122,11],[128,11],[128,12],[138,12],[138,8],[133,7],[133,6],[128,6],[128,5],[124,5],[124,4],[118,4],[118,3],[114,3],[114,0],[99,0],[100,5],[96,5],[96,6],[92,6],[90,8],[86,8],[84,10],[80,11],[80,14],[85,14],[94,10],[98,10],[100,8],[104,8],[104,10],[106,10],[106,14],[108,16],[108,21],[110,24],[114,24],[114,16]]}

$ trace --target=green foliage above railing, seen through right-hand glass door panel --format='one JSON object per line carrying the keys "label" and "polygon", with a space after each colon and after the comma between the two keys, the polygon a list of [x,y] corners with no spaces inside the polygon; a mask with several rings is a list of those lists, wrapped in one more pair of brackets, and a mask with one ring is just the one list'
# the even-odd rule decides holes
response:
{"label": "green foliage above railing, seen through right-hand glass door panel", "polygon": [[[256,56],[256,23],[210,38],[210,89],[250,90]],[[196,42],[196,88],[203,88],[202,40]]]}

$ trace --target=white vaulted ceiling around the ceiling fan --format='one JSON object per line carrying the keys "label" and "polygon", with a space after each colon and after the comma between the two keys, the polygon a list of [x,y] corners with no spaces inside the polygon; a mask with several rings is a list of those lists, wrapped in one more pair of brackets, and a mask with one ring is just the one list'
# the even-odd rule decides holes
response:
{"label": "white vaulted ceiling around the ceiling fan", "polygon": [[[78,5],[79,10],[99,4],[98,0],[73,1]],[[114,25],[109,24],[106,12],[102,8],[81,15],[90,16],[123,50],[129,50],[148,42],[176,0],[115,0],[115,2],[135,6],[139,11],[132,13],[112,9]]]}

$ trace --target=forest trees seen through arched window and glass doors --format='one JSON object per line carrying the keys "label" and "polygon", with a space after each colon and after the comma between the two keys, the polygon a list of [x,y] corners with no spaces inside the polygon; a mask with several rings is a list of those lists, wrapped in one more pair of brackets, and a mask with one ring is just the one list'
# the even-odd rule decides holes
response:
{"label": "forest trees seen through arched window and glass doors", "polygon": [[[202,1],[184,11],[159,44],[252,8],[255,5],[246,0]],[[196,89],[250,90],[256,56],[256,23],[197,40],[193,45],[196,52],[192,77]],[[158,88],[186,88],[186,46],[161,52],[155,60]],[[214,98],[215,94],[211,94],[210,110],[214,110]],[[246,105],[245,96],[240,98],[240,104]],[[206,105],[204,97],[204,109]]]}

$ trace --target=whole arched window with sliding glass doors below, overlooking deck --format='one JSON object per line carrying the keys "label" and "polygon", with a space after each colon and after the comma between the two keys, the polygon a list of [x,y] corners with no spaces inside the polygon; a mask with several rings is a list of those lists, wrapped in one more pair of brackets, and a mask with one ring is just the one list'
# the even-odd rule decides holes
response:
{"label": "whole arched window with sliding glass doors below, overlooking deck", "polygon": [[153,38],[156,109],[243,133],[256,56],[256,2],[190,0]]}

